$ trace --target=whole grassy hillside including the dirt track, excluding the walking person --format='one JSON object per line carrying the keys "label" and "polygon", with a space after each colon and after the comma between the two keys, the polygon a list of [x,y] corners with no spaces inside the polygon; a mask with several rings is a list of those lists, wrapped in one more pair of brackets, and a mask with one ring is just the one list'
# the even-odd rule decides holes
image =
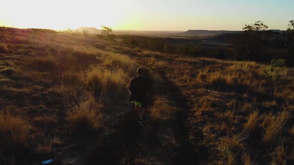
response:
{"label": "whole grassy hillside including the dirt track, excluding the walking person", "polygon": [[[274,82],[270,63],[0,27],[0,164],[293,164],[294,69],[281,66]],[[125,89],[138,67],[152,82],[143,128]]]}

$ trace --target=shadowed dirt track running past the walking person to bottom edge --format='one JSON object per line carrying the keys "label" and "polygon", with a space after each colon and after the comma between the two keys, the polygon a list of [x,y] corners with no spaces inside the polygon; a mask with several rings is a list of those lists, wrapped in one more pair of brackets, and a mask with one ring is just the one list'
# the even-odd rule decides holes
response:
{"label": "shadowed dirt track running past the walking person to bottom edge", "polygon": [[[144,118],[145,126],[134,121],[135,114],[126,112],[121,117],[112,117],[113,130],[102,133],[100,138],[84,142],[88,149],[79,164],[199,164],[199,150],[192,145],[188,138],[188,114],[190,107],[188,99],[182,94],[179,86],[175,85],[162,70],[147,68],[155,79],[152,88],[154,96],[164,96],[177,110],[174,119],[153,120],[147,112]],[[166,142],[165,137],[174,137],[173,145]],[[102,140],[101,140],[102,138]],[[100,140],[98,140],[100,139]],[[90,145],[90,146],[89,146]],[[196,145],[197,146],[197,145]]]}

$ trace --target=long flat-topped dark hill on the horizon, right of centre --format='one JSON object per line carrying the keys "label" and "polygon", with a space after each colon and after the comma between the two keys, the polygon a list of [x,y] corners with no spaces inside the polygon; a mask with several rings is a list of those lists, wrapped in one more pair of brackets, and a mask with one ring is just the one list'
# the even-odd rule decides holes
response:
{"label": "long flat-topped dark hill on the horizon, right of centre", "polygon": [[216,36],[224,33],[238,33],[240,31],[229,31],[229,30],[188,30],[180,35],[183,36]]}

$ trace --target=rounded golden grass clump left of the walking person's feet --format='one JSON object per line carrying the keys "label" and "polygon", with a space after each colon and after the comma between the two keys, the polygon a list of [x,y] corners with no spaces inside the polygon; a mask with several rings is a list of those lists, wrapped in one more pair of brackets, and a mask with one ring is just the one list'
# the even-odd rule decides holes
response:
{"label": "rounded golden grass clump left of the walking person's feet", "polygon": [[66,113],[66,120],[74,133],[93,132],[102,126],[102,114],[96,108],[93,100],[88,100]]}

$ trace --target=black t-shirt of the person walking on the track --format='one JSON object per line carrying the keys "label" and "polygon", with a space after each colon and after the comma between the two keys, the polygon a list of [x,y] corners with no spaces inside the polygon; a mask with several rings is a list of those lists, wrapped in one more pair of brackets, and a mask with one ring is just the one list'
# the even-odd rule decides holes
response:
{"label": "black t-shirt of the person walking on the track", "polygon": [[130,84],[130,101],[144,102],[148,91],[148,79],[143,76],[138,76],[131,81]]}

